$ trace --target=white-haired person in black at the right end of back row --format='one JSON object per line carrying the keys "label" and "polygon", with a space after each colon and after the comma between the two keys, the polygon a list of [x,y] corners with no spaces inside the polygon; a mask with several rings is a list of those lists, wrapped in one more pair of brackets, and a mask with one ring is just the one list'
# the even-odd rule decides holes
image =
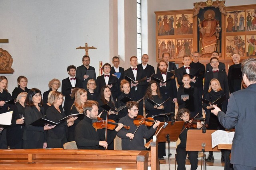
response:
{"label": "white-haired person in black at the right end of back row", "polygon": [[228,68],[228,87],[229,87],[230,93],[241,90],[241,79],[242,79],[242,71],[241,71],[242,64],[240,63],[240,55],[234,54],[232,56],[232,60],[234,64]]}

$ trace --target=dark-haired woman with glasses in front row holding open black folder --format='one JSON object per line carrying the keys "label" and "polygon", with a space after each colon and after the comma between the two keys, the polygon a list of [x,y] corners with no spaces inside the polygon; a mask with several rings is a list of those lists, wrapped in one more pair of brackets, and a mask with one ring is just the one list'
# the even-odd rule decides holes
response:
{"label": "dark-haired woman with glasses in front row holding open black folder", "polygon": [[23,133],[23,148],[24,149],[46,149],[46,130],[54,128],[54,126],[45,125],[37,127],[30,125],[34,121],[45,118],[44,108],[42,107],[41,91],[37,88],[29,90],[25,100],[25,129]]}

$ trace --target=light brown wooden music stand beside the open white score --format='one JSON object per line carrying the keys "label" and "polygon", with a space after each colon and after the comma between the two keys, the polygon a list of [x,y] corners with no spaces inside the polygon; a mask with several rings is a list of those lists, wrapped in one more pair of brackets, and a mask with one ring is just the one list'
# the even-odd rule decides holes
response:
{"label": "light brown wooden music stand beside the open white score", "polygon": [[215,131],[216,130],[207,130],[206,133],[202,133],[202,130],[188,130],[186,151],[202,150],[204,155],[204,170],[206,170],[205,151],[220,151],[217,147],[212,148],[212,133]]}

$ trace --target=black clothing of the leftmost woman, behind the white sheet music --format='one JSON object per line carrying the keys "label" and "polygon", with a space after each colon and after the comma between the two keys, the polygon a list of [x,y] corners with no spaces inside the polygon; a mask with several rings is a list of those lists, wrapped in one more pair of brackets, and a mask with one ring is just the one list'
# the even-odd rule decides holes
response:
{"label": "black clothing of the leftmost woman, behind the white sheet music", "polygon": [[[6,90],[3,90],[3,92],[0,92],[0,101],[8,101],[11,100],[12,96],[10,93],[8,93]],[[9,104],[4,104],[4,106],[0,107],[0,114],[6,113],[9,108]],[[8,127],[7,127],[8,128]],[[7,140],[6,140],[6,129],[2,130],[0,133],[0,149],[7,149]]]}

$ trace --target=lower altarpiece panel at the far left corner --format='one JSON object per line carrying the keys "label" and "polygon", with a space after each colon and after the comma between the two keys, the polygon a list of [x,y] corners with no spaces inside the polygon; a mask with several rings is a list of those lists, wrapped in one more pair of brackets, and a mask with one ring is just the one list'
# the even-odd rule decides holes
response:
{"label": "lower altarpiece panel at the far left corner", "polygon": [[169,52],[170,59],[175,59],[175,39],[158,39],[158,60],[164,52]]}

